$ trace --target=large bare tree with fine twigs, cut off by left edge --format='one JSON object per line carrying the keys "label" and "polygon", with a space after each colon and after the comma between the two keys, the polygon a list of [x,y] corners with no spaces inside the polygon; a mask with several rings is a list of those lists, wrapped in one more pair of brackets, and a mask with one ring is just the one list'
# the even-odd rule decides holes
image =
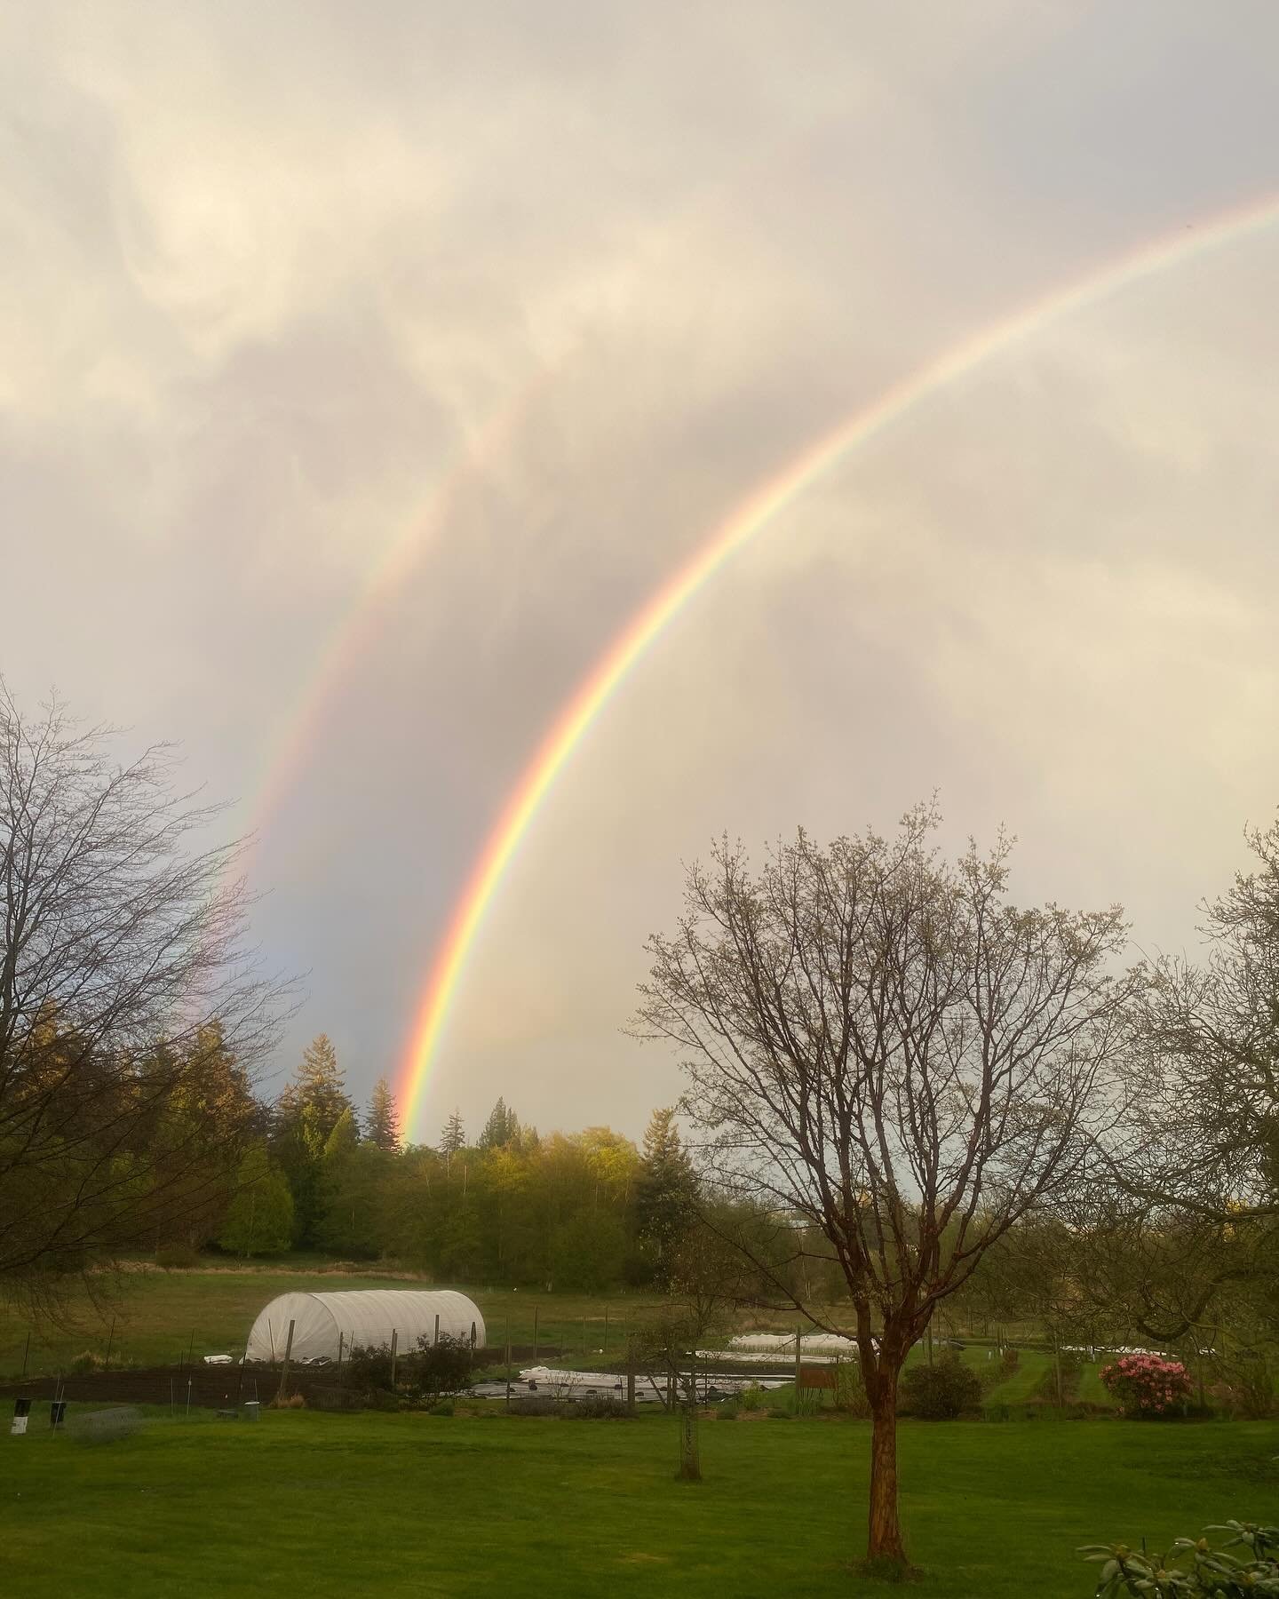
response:
{"label": "large bare tree with fine twigs, cut off by left edge", "polygon": [[112,737],[0,683],[0,1287],[34,1298],[208,1206],[288,1001],[243,846],[193,847],[217,809]]}

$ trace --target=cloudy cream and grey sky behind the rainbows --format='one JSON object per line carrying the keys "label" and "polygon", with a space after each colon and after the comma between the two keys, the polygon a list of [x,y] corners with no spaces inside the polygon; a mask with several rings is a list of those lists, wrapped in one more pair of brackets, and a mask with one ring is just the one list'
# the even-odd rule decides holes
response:
{"label": "cloudy cream and grey sky behind the rainbows", "polygon": [[[328,1031],[363,1100],[663,576],[948,342],[1279,195],[1277,152],[1271,0],[10,6],[0,672],[237,800],[309,974],[277,1065]],[[679,1084],[620,1033],[643,940],[721,830],[940,788],[950,846],[1018,835],[1018,897],[1189,943],[1279,801],[1277,289],[1279,229],[1173,265],[774,520],[564,771],[414,1132],[504,1094],[640,1134]]]}

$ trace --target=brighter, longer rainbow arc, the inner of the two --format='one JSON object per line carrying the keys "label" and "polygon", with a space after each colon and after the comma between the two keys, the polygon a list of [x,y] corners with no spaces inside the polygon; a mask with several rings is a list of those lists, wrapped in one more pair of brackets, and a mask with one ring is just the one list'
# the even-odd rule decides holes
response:
{"label": "brighter, longer rainbow arc, the inner of the two", "polygon": [[491,827],[480,857],[457,897],[432,963],[417,1006],[409,1047],[398,1075],[398,1097],[406,1137],[412,1135],[420,1119],[422,1099],[452,1001],[465,972],[467,958],[475,947],[484,915],[502,878],[539,807],[632,668],[657,641],[667,624],[724,563],[852,449],[865,446],[932,395],[958,382],[1010,345],[1156,272],[1180,265],[1210,249],[1233,245],[1276,221],[1279,221],[1279,198],[1276,197],[1220,213],[1194,229],[1180,229],[1175,235],[1159,238],[1126,254],[1086,278],[1052,291],[1017,315],[961,341],[937,360],[889,387],[867,406],[844,417],[772,478],[759,484],[716,526],[694,556],[649,596],[627,622],[622,633],[609,643],[604,654],[556,715]]}

